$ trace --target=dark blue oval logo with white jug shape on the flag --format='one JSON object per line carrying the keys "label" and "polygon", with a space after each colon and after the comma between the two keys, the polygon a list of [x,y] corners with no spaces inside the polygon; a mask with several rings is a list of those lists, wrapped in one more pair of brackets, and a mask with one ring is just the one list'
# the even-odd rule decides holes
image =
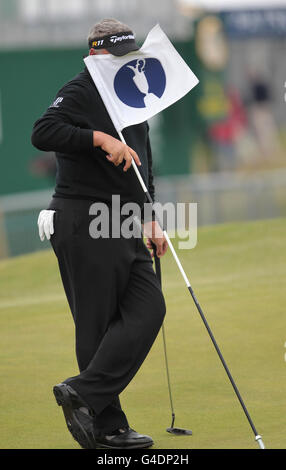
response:
{"label": "dark blue oval logo with white jug shape on the flag", "polygon": [[166,88],[166,74],[158,59],[135,59],[121,67],[114,90],[127,106],[146,108],[158,101]]}

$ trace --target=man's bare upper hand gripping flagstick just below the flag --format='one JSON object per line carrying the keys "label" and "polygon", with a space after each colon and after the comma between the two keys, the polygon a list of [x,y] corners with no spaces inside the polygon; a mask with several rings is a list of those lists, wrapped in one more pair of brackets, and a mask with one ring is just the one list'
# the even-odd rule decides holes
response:
{"label": "man's bare upper hand gripping flagstick just below the flag", "polygon": [[115,166],[120,165],[120,163],[125,160],[126,163],[123,171],[127,171],[131,167],[132,158],[137,165],[141,165],[140,159],[135,150],[120,140],[115,139],[111,135],[105,134],[104,132],[93,132],[93,145],[94,147],[101,147],[102,150],[107,152],[107,160],[109,160]]}

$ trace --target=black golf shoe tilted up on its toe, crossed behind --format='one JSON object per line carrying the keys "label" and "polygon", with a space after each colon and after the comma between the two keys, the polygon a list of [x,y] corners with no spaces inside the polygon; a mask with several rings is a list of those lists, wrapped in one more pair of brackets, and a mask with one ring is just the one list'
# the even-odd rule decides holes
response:
{"label": "black golf shoe tilted up on its toe, crossed behind", "polygon": [[83,449],[95,449],[94,416],[77,392],[65,383],[55,385],[53,392],[62,407],[68,430]]}

